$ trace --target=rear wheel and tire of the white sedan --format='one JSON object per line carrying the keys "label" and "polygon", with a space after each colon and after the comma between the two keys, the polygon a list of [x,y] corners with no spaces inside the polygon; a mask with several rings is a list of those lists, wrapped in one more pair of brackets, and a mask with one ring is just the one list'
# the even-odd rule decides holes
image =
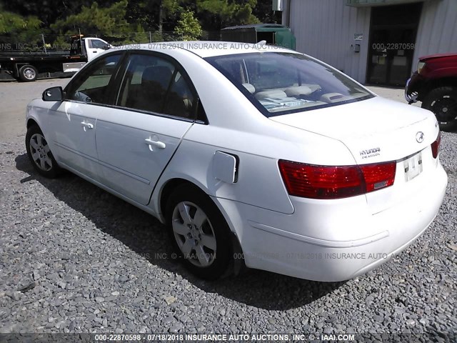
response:
{"label": "rear wheel and tire of the white sedan", "polygon": [[177,187],[166,204],[170,239],[181,262],[201,279],[219,279],[232,257],[229,225],[197,187]]}

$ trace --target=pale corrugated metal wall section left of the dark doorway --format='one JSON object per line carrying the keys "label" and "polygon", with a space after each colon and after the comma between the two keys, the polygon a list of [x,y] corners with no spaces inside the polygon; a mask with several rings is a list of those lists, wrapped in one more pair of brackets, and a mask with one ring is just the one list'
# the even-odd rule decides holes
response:
{"label": "pale corrugated metal wall section left of the dark doorway", "polygon": [[[346,0],[290,0],[290,5],[296,50],[364,83],[371,8],[346,6]],[[363,34],[363,40],[354,41],[354,34]],[[359,53],[353,52],[354,44],[361,44]]]}

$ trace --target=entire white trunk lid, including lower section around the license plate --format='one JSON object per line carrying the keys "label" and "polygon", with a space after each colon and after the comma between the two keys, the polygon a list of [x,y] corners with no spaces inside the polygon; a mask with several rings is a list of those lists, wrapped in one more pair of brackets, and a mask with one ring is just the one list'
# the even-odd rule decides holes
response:
{"label": "entire white trunk lid, including lower section around the license plate", "polygon": [[338,139],[356,164],[396,161],[393,186],[366,193],[371,214],[408,202],[435,177],[439,161],[432,156],[431,144],[439,129],[430,111],[376,96],[271,119]]}

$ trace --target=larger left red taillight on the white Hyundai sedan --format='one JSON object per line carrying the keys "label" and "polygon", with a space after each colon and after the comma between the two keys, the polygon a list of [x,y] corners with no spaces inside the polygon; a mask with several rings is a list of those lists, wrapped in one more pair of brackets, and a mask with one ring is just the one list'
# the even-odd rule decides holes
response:
{"label": "larger left red taillight on the white Hyundai sedan", "polygon": [[316,166],[278,161],[288,194],[311,199],[340,199],[391,186],[396,162],[361,166]]}

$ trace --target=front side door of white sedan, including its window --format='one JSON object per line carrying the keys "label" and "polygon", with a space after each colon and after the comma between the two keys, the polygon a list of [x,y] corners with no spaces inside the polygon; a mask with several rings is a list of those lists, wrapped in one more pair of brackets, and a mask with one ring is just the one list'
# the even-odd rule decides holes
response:
{"label": "front side door of white sedan, including its window", "polygon": [[64,101],[49,111],[51,139],[59,162],[98,179],[96,120],[106,111],[108,86],[121,59],[111,54],[81,71],[66,87]]}

